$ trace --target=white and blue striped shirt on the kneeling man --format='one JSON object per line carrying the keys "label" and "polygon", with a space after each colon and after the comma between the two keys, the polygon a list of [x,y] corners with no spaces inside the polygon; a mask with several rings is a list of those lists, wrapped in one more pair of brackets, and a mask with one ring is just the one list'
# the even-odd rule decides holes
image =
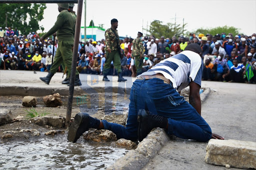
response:
{"label": "white and blue striped shirt on the kneeling man", "polygon": [[169,79],[177,91],[186,88],[190,81],[201,86],[203,61],[201,57],[192,51],[182,51],[172,57],[162,60],[151,69],[141,75],[155,75],[161,73]]}

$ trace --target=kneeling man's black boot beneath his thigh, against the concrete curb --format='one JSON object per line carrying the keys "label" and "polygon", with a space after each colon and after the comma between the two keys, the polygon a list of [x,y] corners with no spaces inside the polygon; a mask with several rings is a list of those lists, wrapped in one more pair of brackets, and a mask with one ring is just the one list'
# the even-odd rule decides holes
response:
{"label": "kneeling man's black boot beneath his thigh, against the concrete curb", "polygon": [[156,127],[165,129],[167,126],[167,118],[150,114],[148,111],[138,111],[138,141],[142,141],[149,132]]}

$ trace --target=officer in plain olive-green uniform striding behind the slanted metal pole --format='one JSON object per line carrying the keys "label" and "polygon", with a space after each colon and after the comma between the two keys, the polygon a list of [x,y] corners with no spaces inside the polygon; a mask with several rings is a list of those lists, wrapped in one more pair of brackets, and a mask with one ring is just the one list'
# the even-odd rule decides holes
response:
{"label": "officer in plain olive-green uniform striding behind the slanted metal pole", "polygon": [[[58,48],[54,57],[53,64],[50,68],[50,71],[46,77],[40,77],[44,83],[49,84],[51,77],[56,73],[59,65],[64,62],[67,67],[68,75],[71,73],[71,64],[72,64],[72,47],[74,43],[74,31],[75,31],[75,19],[67,11],[68,3],[58,3],[58,11],[60,12],[57,16],[57,21],[54,26],[42,37],[40,41],[43,41],[45,37],[53,34],[57,31],[58,37]],[[81,81],[79,79],[79,73],[76,70],[75,72],[75,86],[80,86]]]}

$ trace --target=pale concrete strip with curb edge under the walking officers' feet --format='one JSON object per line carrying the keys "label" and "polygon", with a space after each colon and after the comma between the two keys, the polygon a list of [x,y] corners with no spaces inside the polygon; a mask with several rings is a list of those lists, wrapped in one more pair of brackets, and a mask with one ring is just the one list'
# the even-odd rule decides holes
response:
{"label": "pale concrete strip with curb edge under the walking officers' feet", "polygon": [[[69,87],[61,84],[63,73],[56,73],[49,85],[43,83],[39,77],[45,77],[47,72],[22,71],[22,70],[0,70],[0,95],[21,96],[45,96],[59,93],[68,95]],[[132,82],[135,78],[124,77],[126,82],[117,82],[117,76],[108,76],[109,82],[103,82],[101,75],[80,74],[82,86],[74,88],[74,95],[83,93],[118,92],[129,94]]]}

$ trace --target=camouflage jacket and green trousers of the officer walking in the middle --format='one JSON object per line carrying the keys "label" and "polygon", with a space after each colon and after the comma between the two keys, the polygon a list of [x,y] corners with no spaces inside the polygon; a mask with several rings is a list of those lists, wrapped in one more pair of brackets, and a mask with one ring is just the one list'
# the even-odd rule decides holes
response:
{"label": "camouflage jacket and green trousers of the officer walking in the middle", "polygon": [[[114,32],[117,35],[117,37],[114,35]],[[116,42],[116,38],[118,39],[118,42]],[[113,61],[113,65],[114,68],[116,70],[117,73],[121,72],[121,61],[120,61],[120,54],[119,51],[117,50],[117,45],[120,46],[120,42],[119,42],[119,35],[118,35],[118,31],[115,29],[107,29],[105,31],[105,45],[106,45],[106,49],[109,47],[111,52],[109,53],[106,50],[106,60],[105,60],[105,64],[104,64],[104,68],[102,73],[103,74],[107,74],[109,69],[110,69],[110,64],[111,61]]]}

